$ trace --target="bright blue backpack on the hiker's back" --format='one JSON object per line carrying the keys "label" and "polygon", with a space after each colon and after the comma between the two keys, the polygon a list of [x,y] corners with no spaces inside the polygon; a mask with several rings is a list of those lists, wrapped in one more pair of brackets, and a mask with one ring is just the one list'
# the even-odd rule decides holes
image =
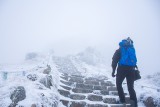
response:
{"label": "bright blue backpack on the hiker's back", "polygon": [[119,45],[121,51],[119,65],[136,66],[137,58],[135,48],[133,46],[133,41],[122,40]]}

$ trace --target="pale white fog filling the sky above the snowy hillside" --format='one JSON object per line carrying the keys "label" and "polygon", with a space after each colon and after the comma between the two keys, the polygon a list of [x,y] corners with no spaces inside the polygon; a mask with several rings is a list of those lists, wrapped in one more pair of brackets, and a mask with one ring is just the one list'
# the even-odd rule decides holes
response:
{"label": "pale white fog filling the sky above the snowy hillside", "polygon": [[160,72],[159,0],[0,0],[0,63],[28,52],[55,55],[95,47],[110,63],[131,37],[143,72]]}

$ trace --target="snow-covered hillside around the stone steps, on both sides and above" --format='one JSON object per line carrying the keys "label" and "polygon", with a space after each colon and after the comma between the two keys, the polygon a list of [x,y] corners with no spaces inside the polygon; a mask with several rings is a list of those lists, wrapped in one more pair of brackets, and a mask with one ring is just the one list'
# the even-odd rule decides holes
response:
{"label": "snow-covered hillside around the stone steps, on both sides and above", "polygon": [[[46,88],[39,81],[46,76],[43,74],[47,64],[51,66],[52,84],[51,89]],[[51,104],[59,104],[59,86],[60,72],[76,73],[80,72],[84,76],[107,76],[110,81],[115,83],[115,78],[111,77],[111,67],[107,66],[102,56],[95,50],[86,49],[77,55],[66,57],[57,57],[46,55],[40,60],[25,61],[16,65],[0,65],[0,107],[8,107],[12,101],[11,93],[15,87],[23,86],[26,90],[26,98],[18,103],[18,106],[30,107],[36,104],[38,107],[51,107]],[[31,81],[27,78],[29,74],[36,74],[37,80]],[[143,76],[142,79],[135,82],[135,90],[139,101],[139,106],[144,107],[143,100],[148,97],[154,98],[154,102],[160,105],[160,73],[149,76]],[[124,90],[127,92],[127,86],[124,81]]]}

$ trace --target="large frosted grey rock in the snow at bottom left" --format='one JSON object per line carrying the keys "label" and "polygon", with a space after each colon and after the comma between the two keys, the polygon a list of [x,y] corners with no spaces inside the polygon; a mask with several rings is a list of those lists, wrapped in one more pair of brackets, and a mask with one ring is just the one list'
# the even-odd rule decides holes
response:
{"label": "large frosted grey rock in the snow at bottom left", "polygon": [[25,98],[26,98],[26,91],[24,87],[18,86],[10,96],[12,103],[10,104],[9,107],[15,107],[19,101],[22,101]]}

